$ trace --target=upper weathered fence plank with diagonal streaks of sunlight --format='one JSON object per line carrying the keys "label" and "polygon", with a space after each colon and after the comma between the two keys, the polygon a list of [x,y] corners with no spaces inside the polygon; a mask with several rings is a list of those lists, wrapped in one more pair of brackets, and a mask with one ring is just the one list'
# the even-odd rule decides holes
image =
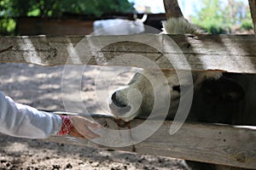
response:
{"label": "upper weathered fence plank with diagonal streaks of sunlight", "polygon": [[[152,65],[147,62],[145,64],[146,58],[162,69],[174,69],[175,65],[176,69],[189,70],[184,60],[187,59],[193,71],[256,73],[256,38],[252,35],[170,37],[154,34],[110,37],[1,37],[0,62],[125,65],[152,69]],[[123,58],[117,59],[118,55]]]}

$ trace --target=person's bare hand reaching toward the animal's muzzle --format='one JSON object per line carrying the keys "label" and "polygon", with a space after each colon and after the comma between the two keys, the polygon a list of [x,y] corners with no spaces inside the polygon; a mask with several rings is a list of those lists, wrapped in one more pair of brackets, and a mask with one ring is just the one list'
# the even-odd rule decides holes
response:
{"label": "person's bare hand reaching toward the animal's muzzle", "polygon": [[73,122],[73,129],[71,130],[69,135],[78,138],[85,139],[96,139],[101,138],[100,135],[92,132],[91,128],[100,128],[101,126],[95,122],[91,122],[89,119],[83,116],[69,116],[71,121]]}

